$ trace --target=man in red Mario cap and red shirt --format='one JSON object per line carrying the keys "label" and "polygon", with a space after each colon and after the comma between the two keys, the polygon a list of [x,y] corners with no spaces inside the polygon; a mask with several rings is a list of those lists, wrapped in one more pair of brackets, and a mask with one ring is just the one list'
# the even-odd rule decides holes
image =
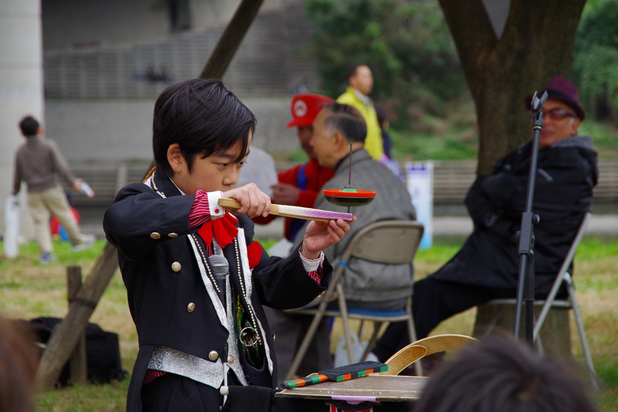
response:
{"label": "man in red Mario cap and red shirt", "polygon": [[[334,102],[331,98],[314,93],[301,93],[292,99],[292,120],[289,127],[297,127],[298,140],[301,147],[307,153],[309,161],[293,168],[279,172],[279,183],[273,185],[273,203],[277,205],[293,205],[301,207],[313,207],[319,190],[324,183],[332,178],[334,172],[331,168],[323,168],[318,164],[312,146],[309,144],[313,136],[313,120],[320,113],[325,104]],[[277,216],[268,215],[266,218],[254,218],[253,222],[266,225]],[[296,233],[304,224],[304,220],[286,218],[286,239],[294,241]]]}

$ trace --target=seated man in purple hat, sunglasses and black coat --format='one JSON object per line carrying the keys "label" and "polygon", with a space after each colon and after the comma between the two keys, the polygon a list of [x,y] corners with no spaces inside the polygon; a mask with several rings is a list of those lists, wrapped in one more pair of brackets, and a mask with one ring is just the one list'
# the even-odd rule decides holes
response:
{"label": "seated man in purple hat, sunglasses and black coat", "polygon": [[[538,174],[532,211],[536,299],[545,299],[571,242],[590,210],[597,184],[597,152],[589,136],[577,135],[586,117],[577,87],[555,76],[540,91],[542,106]],[[532,96],[524,102],[530,107]],[[519,254],[515,233],[525,210],[532,141],[499,159],[489,176],[478,176],[466,196],[474,231],[437,272],[414,284],[412,310],[418,339],[441,321],[494,298],[516,297]],[[564,296],[565,291],[562,290]],[[560,294],[560,292],[559,292]],[[380,361],[409,343],[406,325],[391,323],[374,354]]]}

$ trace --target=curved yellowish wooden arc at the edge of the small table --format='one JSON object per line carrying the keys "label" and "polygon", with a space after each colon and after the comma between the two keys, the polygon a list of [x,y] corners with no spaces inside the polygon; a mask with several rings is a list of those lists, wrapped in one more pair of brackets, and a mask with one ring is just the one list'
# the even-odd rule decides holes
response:
{"label": "curved yellowish wooden arc at the edge of the small table", "polygon": [[389,366],[389,370],[380,372],[378,375],[398,375],[402,370],[406,369],[424,356],[435,354],[437,352],[444,352],[445,350],[461,349],[461,347],[468,345],[468,343],[478,342],[479,341],[477,341],[477,339],[471,338],[470,336],[457,334],[429,336],[428,338],[421,339],[420,341],[410,343],[402,350],[391,356],[389,360],[386,361],[386,364]]}

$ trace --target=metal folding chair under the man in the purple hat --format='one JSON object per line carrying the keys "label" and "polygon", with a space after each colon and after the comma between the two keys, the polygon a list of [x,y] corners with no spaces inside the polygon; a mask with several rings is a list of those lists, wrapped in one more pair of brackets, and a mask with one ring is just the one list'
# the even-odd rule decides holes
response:
{"label": "metal folding chair under the man in the purple hat", "polygon": [[[556,280],[553,282],[553,286],[547,295],[547,299],[545,301],[536,301],[535,304],[542,304],[543,308],[534,323],[534,343],[539,350],[539,352],[543,353],[542,343],[540,341],[540,330],[542,328],[545,319],[547,318],[547,314],[549,310],[554,307],[562,307],[573,309],[573,314],[575,315],[575,323],[577,324],[577,332],[580,335],[580,342],[582,344],[582,351],[584,352],[584,358],[586,358],[586,365],[588,367],[588,374],[593,382],[593,385],[597,387],[597,374],[595,372],[595,367],[593,365],[592,356],[590,354],[590,348],[588,347],[588,340],[586,339],[586,331],[584,330],[584,323],[582,322],[582,316],[580,314],[580,306],[577,304],[577,299],[575,298],[575,287],[573,286],[573,279],[569,274],[569,267],[573,262],[573,258],[575,257],[575,252],[577,251],[577,246],[579,246],[580,241],[584,237],[584,232],[586,231],[586,227],[588,227],[588,222],[590,221],[591,213],[588,212],[584,218],[582,219],[582,223],[580,224],[580,229],[577,231],[575,238],[573,239],[573,243],[571,243],[571,248],[567,253],[566,258],[562,262],[562,266],[560,267],[560,271],[558,271],[558,275],[556,275]],[[564,300],[556,300],[556,295],[558,294],[558,290],[562,285],[562,282],[567,286],[567,292],[569,297],[566,301]],[[493,299],[489,301],[487,304],[501,305],[501,304],[515,304],[515,299]],[[496,319],[492,321],[495,324]],[[489,334],[492,330],[492,325],[488,328],[485,334]]]}

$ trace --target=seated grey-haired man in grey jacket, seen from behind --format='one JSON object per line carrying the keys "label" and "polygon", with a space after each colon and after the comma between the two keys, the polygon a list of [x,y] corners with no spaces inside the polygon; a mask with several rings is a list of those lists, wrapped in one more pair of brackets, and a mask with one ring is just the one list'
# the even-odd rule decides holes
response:
{"label": "seated grey-haired man in grey jacket, seen from behind", "polygon": [[[371,159],[369,152],[365,150],[367,126],[358,109],[347,104],[328,104],[316,117],[313,126],[314,135],[311,144],[319,165],[333,168],[335,173],[332,179],[323,185],[322,190],[341,190],[347,185],[350,144],[352,144],[352,185],[358,190],[376,192],[374,201],[369,205],[354,207],[351,210],[356,216],[356,222],[350,226],[349,235],[324,251],[328,260],[335,266],[347,243],[358,230],[378,220],[416,220],[416,214],[404,183],[385,165]],[[317,197],[314,207],[345,211],[341,206],[328,203],[321,194]],[[305,227],[299,231],[297,239],[303,238]],[[352,258],[345,268],[344,278],[343,289],[349,307],[400,310],[405,307],[407,297],[412,293],[414,268],[412,264],[379,264]],[[306,328],[299,328],[299,325],[306,323],[308,326],[311,317],[283,312],[273,313],[273,311],[267,312],[267,316],[271,329],[277,336],[279,367],[287,369],[306,332]],[[313,349],[310,347],[304,364],[308,362],[308,358],[313,358],[314,370],[303,369],[301,365],[299,375],[330,367],[328,321],[323,321],[323,326],[316,333]],[[279,379],[283,379],[286,372],[287,370],[279,370]]]}

